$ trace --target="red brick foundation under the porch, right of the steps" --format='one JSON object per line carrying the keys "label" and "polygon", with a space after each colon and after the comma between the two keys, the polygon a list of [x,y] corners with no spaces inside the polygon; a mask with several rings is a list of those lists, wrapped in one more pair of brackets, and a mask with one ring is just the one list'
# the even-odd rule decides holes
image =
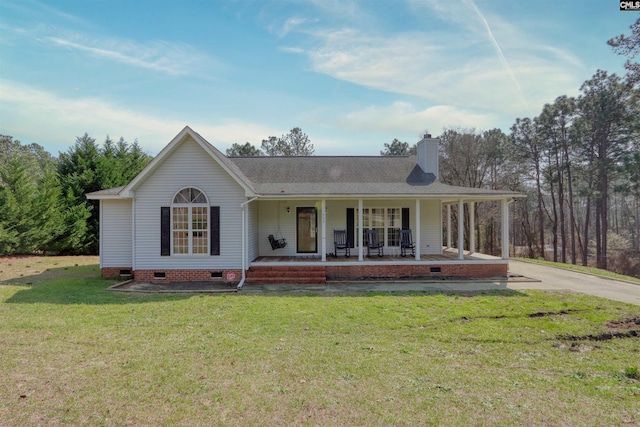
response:
{"label": "red brick foundation under the porch, right of the steps", "polygon": [[340,265],[326,269],[328,280],[507,277],[507,264]]}

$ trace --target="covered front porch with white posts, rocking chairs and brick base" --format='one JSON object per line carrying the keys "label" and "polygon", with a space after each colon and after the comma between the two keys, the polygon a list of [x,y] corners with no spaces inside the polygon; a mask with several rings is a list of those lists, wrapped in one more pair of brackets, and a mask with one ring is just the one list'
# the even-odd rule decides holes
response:
{"label": "covered front porch with white posts, rocking chairs and brick base", "polygon": [[[476,252],[474,233],[468,231],[475,228],[476,203],[496,199],[502,206],[501,257]],[[252,217],[258,224],[253,230],[257,245],[249,250],[253,254],[244,264],[246,282],[506,277],[510,201],[487,196],[255,200],[246,212],[247,223]],[[457,221],[465,218],[459,214],[465,207],[470,215]],[[368,232],[375,228],[381,240],[380,252],[368,248]],[[348,236],[349,257],[337,250],[336,230]],[[397,237],[401,230],[413,236],[413,250],[405,251],[405,256]],[[286,244],[270,245],[274,237]]]}

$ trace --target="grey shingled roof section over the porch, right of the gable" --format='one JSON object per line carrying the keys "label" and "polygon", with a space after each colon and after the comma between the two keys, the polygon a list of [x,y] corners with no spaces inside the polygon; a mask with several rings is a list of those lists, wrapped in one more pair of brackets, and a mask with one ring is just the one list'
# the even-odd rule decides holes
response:
{"label": "grey shingled roof section over the porch, right of the gable", "polygon": [[443,184],[417,166],[416,156],[308,156],[229,158],[267,198],[434,197],[498,199],[513,191]]}

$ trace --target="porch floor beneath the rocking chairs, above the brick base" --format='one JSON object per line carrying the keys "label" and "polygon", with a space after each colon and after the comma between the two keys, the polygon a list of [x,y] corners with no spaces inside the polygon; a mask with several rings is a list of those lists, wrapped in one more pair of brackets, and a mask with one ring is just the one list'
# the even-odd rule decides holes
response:
{"label": "porch floor beneath the rocking chairs, above the brick base", "polygon": [[[393,251],[393,252],[391,252]],[[385,255],[382,257],[378,257],[377,255],[367,256],[366,251],[364,255],[364,259],[362,261],[358,261],[358,252],[357,249],[352,249],[351,256],[349,258],[344,255],[338,255],[338,257],[327,256],[327,260],[325,262],[322,261],[322,258],[319,255],[300,255],[300,256],[259,256],[251,262],[252,266],[269,266],[269,265],[344,265],[344,264],[429,264],[429,263],[473,263],[473,262],[482,262],[482,263],[499,263],[502,264],[506,262],[500,257],[481,254],[478,252],[474,252],[470,254],[469,251],[464,251],[463,256],[464,260],[458,259],[458,250],[452,248],[443,248],[442,254],[421,254],[420,261],[416,261],[415,256],[411,256],[411,254],[407,254],[406,257],[400,256],[399,249],[385,249]],[[391,252],[391,253],[386,253]]]}

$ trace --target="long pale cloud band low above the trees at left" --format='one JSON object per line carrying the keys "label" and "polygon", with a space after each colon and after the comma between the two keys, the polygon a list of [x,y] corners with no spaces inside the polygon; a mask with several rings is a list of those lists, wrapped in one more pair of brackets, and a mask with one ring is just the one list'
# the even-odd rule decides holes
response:
{"label": "long pale cloud band low above the trees at left", "polygon": [[[273,128],[240,120],[223,119],[217,124],[204,124],[179,117],[143,114],[101,99],[60,97],[9,80],[0,82],[0,117],[3,133],[34,142],[51,142],[59,150],[72,145],[73,140],[69,138],[85,132],[98,141],[107,134],[130,141],[138,139],[151,154],[162,149],[185,125],[223,151],[235,142],[255,143],[266,135],[277,134]],[[7,128],[6,123],[11,123],[13,128]]]}

